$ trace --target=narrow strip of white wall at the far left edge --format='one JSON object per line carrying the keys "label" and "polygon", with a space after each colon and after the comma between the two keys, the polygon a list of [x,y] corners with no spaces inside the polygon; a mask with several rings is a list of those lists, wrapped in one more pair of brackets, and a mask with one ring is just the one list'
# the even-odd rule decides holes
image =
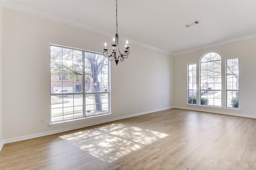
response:
{"label": "narrow strip of white wall at the far left edge", "polygon": [[0,2],[0,150],[4,145],[2,119],[2,9],[2,3]]}

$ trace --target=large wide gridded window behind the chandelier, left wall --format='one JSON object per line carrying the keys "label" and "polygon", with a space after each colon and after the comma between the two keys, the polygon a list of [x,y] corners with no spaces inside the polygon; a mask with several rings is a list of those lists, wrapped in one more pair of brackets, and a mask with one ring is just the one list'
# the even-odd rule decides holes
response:
{"label": "large wide gridded window behind the chandelier, left wall", "polygon": [[52,122],[109,113],[107,57],[51,45],[50,59]]}

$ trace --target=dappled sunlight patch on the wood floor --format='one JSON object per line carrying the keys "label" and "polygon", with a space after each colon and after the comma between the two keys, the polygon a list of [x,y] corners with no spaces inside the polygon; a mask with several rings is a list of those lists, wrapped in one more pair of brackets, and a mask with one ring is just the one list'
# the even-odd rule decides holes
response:
{"label": "dappled sunlight patch on the wood floor", "polygon": [[114,123],[60,137],[92,156],[111,163],[167,136],[166,133]]}

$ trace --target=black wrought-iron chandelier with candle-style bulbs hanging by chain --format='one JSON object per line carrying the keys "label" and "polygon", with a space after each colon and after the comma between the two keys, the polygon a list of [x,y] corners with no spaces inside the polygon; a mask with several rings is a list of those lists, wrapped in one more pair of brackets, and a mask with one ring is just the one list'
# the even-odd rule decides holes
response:
{"label": "black wrought-iron chandelier with candle-style bulbs hanging by chain", "polygon": [[[110,61],[112,61],[113,59],[116,61],[116,65],[118,64],[118,61],[120,59],[120,61],[124,61],[124,59],[126,59],[128,57],[129,54],[129,47],[127,47],[128,44],[128,40],[126,40],[126,45],[124,46],[125,50],[124,50],[124,54],[122,54],[120,52],[119,46],[118,46],[118,34],[117,34],[117,0],[116,0],[116,36],[113,38],[114,44],[112,44],[113,47],[113,52],[111,55],[108,55],[108,49],[107,49],[107,43],[105,43],[105,49],[103,52],[103,55],[105,57],[108,57],[108,59]],[[117,54],[119,53],[119,55]],[[118,55],[118,56],[117,56]]]}

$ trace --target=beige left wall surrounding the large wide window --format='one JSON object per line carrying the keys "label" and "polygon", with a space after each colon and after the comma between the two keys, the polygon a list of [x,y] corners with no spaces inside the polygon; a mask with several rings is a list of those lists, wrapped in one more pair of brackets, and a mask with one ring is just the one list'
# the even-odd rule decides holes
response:
{"label": "beige left wall surrounding the large wide window", "polygon": [[[173,58],[130,44],[129,57],[118,66],[111,63],[112,115],[49,127],[50,43],[102,52],[105,41],[110,44],[111,38],[3,8],[6,143],[174,105]],[[41,118],[46,118],[47,123],[41,124]]]}

